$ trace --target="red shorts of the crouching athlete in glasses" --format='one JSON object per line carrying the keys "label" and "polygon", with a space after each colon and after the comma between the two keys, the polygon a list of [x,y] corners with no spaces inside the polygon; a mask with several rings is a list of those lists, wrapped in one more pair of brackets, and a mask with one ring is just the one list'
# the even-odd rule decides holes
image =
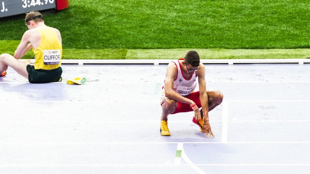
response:
{"label": "red shorts of the crouching athlete in glasses", "polygon": [[[199,98],[200,94],[199,91],[194,92],[192,94],[189,94],[188,96],[186,96],[185,98],[191,99],[193,100],[197,107],[201,108],[201,103],[200,103],[200,98]],[[176,114],[176,113],[180,113],[180,112],[190,112],[193,111],[193,109],[191,108],[191,106],[187,103],[182,103],[182,102],[178,102],[178,106],[175,108],[175,111],[171,114]]]}

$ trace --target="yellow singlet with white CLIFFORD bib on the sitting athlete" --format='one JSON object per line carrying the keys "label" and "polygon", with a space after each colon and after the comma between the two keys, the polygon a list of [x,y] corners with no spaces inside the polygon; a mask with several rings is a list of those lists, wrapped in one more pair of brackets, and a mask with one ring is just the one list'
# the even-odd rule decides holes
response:
{"label": "yellow singlet with white CLIFFORD bib on the sitting athlete", "polygon": [[51,27],[37,27],[41,36],[41,43],[36,50],[33,50],[36,61],[34,69],[51,70],[60,67],[62,57],[62,46],[57,33]]}

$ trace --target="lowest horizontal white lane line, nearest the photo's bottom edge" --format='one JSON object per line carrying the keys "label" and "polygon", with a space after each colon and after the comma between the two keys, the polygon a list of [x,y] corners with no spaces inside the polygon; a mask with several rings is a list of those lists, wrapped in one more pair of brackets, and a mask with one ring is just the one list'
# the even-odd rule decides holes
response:
{"label": "lowest horizontal white lane line, nearest the photo's bottom edge", "polygon": [[[310,164],[194,164],[196,166],[310,166]],[[175,164],[0,164],[0,167],[154,167],[176,166]],[[178,166],[190,166],[179,164]],[[203,171],[202,171],[203,172]]]}

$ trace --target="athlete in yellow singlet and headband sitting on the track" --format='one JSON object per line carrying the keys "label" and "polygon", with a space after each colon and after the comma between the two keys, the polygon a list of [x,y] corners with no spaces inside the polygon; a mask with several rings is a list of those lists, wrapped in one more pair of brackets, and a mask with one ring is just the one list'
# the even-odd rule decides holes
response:
{"label": "athlete in yellow singlet and headband sitting on the track", "polygon": [[[43,16],[37,11],[27,13],[25,23],[29,30],[24,33],[14,57],[10,54],[0,55],[1,76],[6,75],[10,66],[30,83],[61,81],[62,41],[59,30],[46,26]],[[31,48],[36,58],[34,65],[30,65],[29,60],[18,60]]]}

